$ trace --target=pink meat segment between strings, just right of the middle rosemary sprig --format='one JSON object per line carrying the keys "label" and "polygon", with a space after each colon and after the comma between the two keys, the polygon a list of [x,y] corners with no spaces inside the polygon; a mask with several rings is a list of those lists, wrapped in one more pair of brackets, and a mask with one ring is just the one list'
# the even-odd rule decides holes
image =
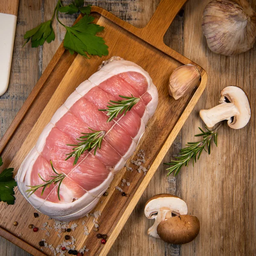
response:
{"label": "pink meat segment between strings, just right of the middle rosemary sprig", "polygon": [[105,140],[123,156],[132,143],[131,136],[119,125],[115,125],[105,136]]}

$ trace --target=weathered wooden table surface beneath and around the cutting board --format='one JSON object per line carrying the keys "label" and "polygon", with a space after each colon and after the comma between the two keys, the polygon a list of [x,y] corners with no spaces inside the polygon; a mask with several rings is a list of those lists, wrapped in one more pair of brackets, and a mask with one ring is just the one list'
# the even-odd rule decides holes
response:
{"label": "weathered wooden table surface beneath and around the cutting board", "polygon": [[[218,104],[219,93],[228,85],[244,89],[250,99],[252,117],[241,130],[224,124],[219,130],[218,148],[203,154],[193,168],[183,168],[177,177],[166,176],[163,164],[154,175],[137,207],[113,245],[109,256],[250,256],[256,255],[256,47],[234,57],[216,55],[207,48],[201,32],[204,7],[210,0],[189,0],[165,35],[165,43],[203,67],[209,76],[207,89],[186,121],[163,162],[176,156],[181,146],[196,141],[198,126],[204,127],[198,112]],[[55,0],[20,0],[12,73],[8,91],[0,97],[2,137],[23,102],[38,81],[65,31],[54,23],[55,41],[43,47],[22,48],[24,33],[48,20]],[[70,1],[63,1],[64,4]],[[160,0],[92,0],[129,23],[143,27]],[[256,10],[256,0],[250,0]],[[71,25],[74,15],[61,15]],[[159,17],[161,18],[161,17]],[[154,56],[152,56],[152,60]],[[201,224],[198,237],[180,246],[150,238],[146,230],[152,224],[144,217],[148,198],[158,193],[171,193],[183,198],[189,214]],[[28,256],[29,253],[0,238],[0,256]]]}

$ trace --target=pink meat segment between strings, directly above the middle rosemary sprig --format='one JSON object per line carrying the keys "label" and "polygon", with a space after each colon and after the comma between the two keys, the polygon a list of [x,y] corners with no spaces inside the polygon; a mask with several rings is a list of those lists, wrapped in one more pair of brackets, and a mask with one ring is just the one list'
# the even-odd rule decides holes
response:
{"label": "pink meat segment between strings, directly above the middle rosemary sprig", "polygon": [[92,132],[83,121],[74,116],[70,111],[61,117],[56,123],[56,127],[65,134],[68,134],[76,142],[78,142],[76,139],[83,136],[82,133]]}

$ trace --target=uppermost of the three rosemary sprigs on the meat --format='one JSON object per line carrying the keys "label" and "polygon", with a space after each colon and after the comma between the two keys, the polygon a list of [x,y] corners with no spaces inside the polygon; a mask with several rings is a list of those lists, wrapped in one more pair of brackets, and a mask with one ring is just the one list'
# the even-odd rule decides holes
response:
{"label": "uppermost of the three rosemary sprigs on the meat", "polygon": [[131,97],[119,95],[119,97],[123,99],[119,101],[111,100],[108,102],[108,109],[99,109],[99,111],[108,111],[107,115],[109,118],[107,122],[111,122],[119,113],[122,114],[125,112],[124,114],[126,114],[127,111],[130,111],[131,108],[140,101],[140,98],[136,98],[132,95]]}

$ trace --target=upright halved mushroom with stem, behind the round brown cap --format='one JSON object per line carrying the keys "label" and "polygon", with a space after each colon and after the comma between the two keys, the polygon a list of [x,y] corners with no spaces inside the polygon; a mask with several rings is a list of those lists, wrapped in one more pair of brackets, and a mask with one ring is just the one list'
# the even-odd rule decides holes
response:
{"label": "upright halved mushroom with stem, behind the round brown cap", "polygon": [[148,235],[160,238],[157,226],[161,221],[172,218],[172,214],[187,214],[186,203],[175,195],[160,194],[151,197],[145,204],[144,213],[148,219],[155,219],[154,225],[148,229]]}

